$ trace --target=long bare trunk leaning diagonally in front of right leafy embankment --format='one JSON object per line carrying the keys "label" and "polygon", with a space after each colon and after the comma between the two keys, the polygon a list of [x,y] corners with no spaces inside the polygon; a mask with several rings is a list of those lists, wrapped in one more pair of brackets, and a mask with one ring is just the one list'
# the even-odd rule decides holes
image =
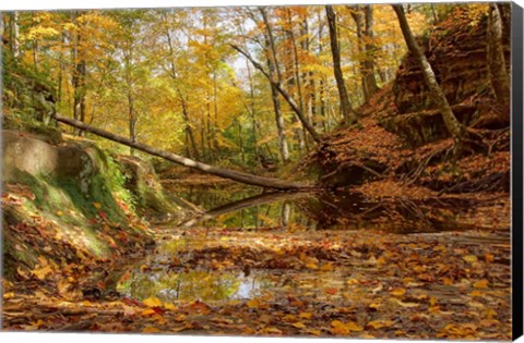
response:
{"label": "long bare trunk leaning diagonally in front of right leafy embankment", "polygon": [[433,70],[431,69],[428,59],[426,58],[422,50],[415,40],[412,29],[409,28],[409,24],[407,23],[402,4],[392,4],[392,7],[396,13],[396,16],[398,17],[398,23],[401,25],[404,39],[406,40],[407,48],[409,49],[409,52],[415,56],[415,59],[417,60],[417,63],[422,71],[424,81],[429,88],[430,96],[437,103],[442,114],[445,127],[453,136],[455,143],[462,142],[465,138],[465,127],[461,124],[461,122],[458,122],[455,114],[451,110],[451,106],[448,102],[444,93],[440,88],[439,83],[437,82]]}

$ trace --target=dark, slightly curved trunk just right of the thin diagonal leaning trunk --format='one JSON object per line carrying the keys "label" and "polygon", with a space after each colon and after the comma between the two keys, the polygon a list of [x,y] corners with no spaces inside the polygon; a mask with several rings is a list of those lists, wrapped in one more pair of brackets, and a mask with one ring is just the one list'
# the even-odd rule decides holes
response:
{"label": "dark, slightly curved trunk just right of the thin diagonal leaning trunk", "polygon": [[341,66],[341,47],[338,46],[338,38],[336,33],[336,15],[333,7],[325,7],[325,14],[327,16],[327,26],[330,28],[330,44],[331,54],[333,57],[333,73],[335,74],[336,87],[338,88],[338,98],[341,99],[341,112],[344,122],[347,125],[354,124],[357,121],[357,115],[352,108],[349,97],[347,95],[346,84],[344,83],[344,75]]}

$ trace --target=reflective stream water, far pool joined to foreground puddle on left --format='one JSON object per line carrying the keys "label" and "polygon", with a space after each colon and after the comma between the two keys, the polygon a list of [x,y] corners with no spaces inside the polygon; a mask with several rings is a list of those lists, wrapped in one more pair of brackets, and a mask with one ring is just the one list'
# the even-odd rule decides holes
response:
{"label": "reflective stream water, far pool joined to foreground puddle on left", "polygon": [[[361,194],[331,193],[260,193],[253,188],[200,189],[182,192],[188,201],[206,209],[184,222],[163,225],[166,240],[160,240],[155,255],[132,268],[118,283],[117,290],[128,296],[144,299],[158,297],[164,302],[226,301],[250,298],[265,291],[314,290],[330,278],[333,283],[341,270],[323,275],[309,271],[298,283],[286,272],[275,270],[241,271],[234,269],[205,270],[199,266],[184,268],[183,260],[202,249],[221,232],[235,230],[262,232],[278,230],[380,230],[396,233],[457,230],[456,213],[467,210],[464,204],[412,201],[407,199],[377,201]],[[464,226],[462,226],[465,229]],[[191,230],[205,229],[204,236]],[[202,231],[202,230],[201,230]],[[187,234],[189,232],[189,234]],[[210,235],[207,235],[210,233]],[[219,238],[218,238],[219,240]],[[289,280],[291,280],[289,282]],[[336,282],[343,283],[343,278]]]}

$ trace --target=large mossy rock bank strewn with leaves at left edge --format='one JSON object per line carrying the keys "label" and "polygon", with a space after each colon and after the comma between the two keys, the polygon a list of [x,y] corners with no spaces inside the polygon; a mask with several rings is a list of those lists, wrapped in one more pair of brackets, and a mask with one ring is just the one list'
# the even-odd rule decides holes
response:
{"label": "large mossy rock bank strewn with leaves at left edge", "polygon": [[93,142],[51,145],[3,132],[4,271],[32,269],[44,256],[86,264],[152,244],[133,212],[119,164]]}

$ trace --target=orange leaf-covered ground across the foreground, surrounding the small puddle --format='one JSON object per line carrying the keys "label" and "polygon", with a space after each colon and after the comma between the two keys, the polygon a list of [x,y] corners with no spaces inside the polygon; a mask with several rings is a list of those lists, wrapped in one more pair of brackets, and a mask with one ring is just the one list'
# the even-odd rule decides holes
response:
{"label": "orange leaf-covered ground across the foreground, surrounding the small puddle", "polygon": [[[4,281],[7,330],[509,340],[510,236],[504,231],[398,235],[380,231],[158,231],[188,240],[158,264],[174,273],[264,274],[252,297],[142,301],[92,294],[70,271]],[[163,258],[165,260],[163,260]],[[156,265],[155,265],[156,264]],[[45,264],[44,264],[45,265]],[[107,265],[108,269],[111,267]],[[48,266],[52,270],[52,265]],[[105,265],[97,266],[99,272]],[[129,278],[124,273],[121,278]],[[96,290],[104,293],[104,284]]]}

